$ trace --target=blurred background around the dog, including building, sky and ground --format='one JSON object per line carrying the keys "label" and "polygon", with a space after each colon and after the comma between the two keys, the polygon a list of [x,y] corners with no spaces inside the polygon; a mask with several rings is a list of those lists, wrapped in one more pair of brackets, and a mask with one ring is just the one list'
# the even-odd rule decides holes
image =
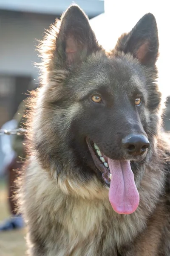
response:
{"label": "blurred background around the dog, including building, sky and ground", "polygon": [[[128,32],[147,12],[157,20],[160,41],[159,84],[167,97],[164,128],[170,131],[169,7],[165,0],[0,0],[0,128],[18,128],[25,121],[28,91],[39,85],[36,45],[45,29],[60,17],[71,3],[88,15],[99,43],[107,50],[114,47],[122,32]],[[23,101],[24,100],[24,101]],[[0,256],[23,256],[26,245],[22,216],[10,200],[18,163],[25,157],[24,136],[0,136]],[[20,157],[19,157],[20,156]],[[12,216],[12,218],[11,218]],[[17,221],[14,221],[14,217]]]}

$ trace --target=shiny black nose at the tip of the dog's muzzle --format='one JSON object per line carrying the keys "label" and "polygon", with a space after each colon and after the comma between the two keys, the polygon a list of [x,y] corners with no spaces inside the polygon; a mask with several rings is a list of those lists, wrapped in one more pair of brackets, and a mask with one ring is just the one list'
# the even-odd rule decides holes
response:
{"label": "shiny black nose at the tip of the dog's muzzle", "polygon": [[131,134],[122,139],[123,148],[133,156],[143,154],[149,145],[147,137],[141,134]]}

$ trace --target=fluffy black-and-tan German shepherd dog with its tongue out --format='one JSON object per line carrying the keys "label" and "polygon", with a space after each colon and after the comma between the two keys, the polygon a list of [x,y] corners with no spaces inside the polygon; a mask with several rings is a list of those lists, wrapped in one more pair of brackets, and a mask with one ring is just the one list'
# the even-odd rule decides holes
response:
{"label": "fluffy black-and-tan German shepherd dog with its tongue out", "polygon": [[111,52],[75,5],[45,35],[20,191],[28,255],[170,256],[158,49],[150,13]]}

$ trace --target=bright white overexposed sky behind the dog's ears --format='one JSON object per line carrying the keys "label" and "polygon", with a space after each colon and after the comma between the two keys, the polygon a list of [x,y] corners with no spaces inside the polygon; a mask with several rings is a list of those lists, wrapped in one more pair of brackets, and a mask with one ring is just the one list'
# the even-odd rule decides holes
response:
{"label": "bright white overexposed sky behind the dog's ears", "polygon": [[164,95],[170,94],[170,7],[168,0],[105,0],[105,14],[90,23],[99,43],[113,49],[123,32],[129,32],[147,12],[156,17],[159,32],[159,86]]}

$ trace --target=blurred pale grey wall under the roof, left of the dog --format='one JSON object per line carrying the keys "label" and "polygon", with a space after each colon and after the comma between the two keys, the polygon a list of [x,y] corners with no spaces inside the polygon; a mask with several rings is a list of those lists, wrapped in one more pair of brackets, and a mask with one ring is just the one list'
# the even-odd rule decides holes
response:
{"label": "blurred pale grey wall under the roof, left of the dog", "polygon": [[30,17],[0,18],[0,74],[31,75],[37,79],[35,45],[54,20]]}

